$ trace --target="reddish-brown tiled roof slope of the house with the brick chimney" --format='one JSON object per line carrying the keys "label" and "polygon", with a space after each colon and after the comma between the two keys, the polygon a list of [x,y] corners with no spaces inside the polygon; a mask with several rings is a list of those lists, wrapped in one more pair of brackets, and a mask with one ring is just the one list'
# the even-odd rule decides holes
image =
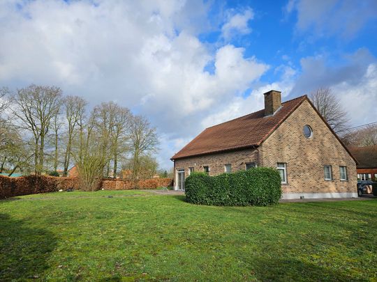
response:
{"label": "reddish-brown tiled roof slope of the house with the brick chimney", "polygon": [[290,116],[290,113],[293,113],[307,99],[304,95],[283,102],[281,108],[273,116],[265,116],[265,110],[262,109],[226,123],[208,127],[171,159],[259,146]]}

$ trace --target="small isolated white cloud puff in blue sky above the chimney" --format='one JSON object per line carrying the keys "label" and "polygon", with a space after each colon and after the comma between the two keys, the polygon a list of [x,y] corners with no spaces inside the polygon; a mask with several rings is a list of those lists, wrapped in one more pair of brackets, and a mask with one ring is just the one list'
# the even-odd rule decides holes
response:
{"label": "small isolated white cloud puff in blue sky above the chimney", "polygon": [[223,38],[229,40],[233,36],[239,36],[251,33],[249,21],[254,18],[254,13],[251,8],[246,8],[243,13],[236,13],[228,16],[228,22],[223,24],[221,33]]}

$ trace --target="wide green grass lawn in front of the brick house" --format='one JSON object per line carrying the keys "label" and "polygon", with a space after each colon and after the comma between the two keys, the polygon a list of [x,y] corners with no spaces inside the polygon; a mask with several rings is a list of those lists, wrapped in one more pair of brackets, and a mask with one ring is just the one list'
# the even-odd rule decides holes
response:
{"label": "wide green grass lawn in front of the brick house", "polygon": [[0,201],[0,281],[377,281],[376,200],[210,207],[142,191],[17,199]]}

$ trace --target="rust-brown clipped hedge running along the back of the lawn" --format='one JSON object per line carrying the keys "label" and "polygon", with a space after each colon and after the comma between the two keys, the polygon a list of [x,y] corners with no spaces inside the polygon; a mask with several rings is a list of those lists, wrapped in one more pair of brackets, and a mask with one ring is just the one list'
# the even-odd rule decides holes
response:
{"label": "rust-brown clipped hedge running along the back of the lawn", "polygon": [[[9,178],[0,175],[0,199],[13,196],[56,192],[60,189],[80,189],[77,178],[52,177],[47,175],[28,175],[19,178]],[[161,186],[172,185],[171,178],[156,178],[139,180],[137,187],[130,180],[105,179],[101,183],[101,189],[128,190],[128,189],[156,189]]]}

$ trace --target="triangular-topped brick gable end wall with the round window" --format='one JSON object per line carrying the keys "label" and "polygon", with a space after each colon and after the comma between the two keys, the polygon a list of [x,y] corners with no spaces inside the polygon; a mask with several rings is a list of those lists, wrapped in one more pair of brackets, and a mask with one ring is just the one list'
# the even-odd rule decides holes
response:
{"label": "triangular-topped brick gable end wall with the round window", "polygon": [[[310,139],[303,134],[304,125],[313,130]],[[287,164],[288,185],[282,185],[283,193],[356,192],[354,160],[307,101],[269,136],[259,151],[261,166]],[[332,166],[332,181],[325,181],[324,165]],[[339,180],[339,166],[347,166],[348,181]]]}

